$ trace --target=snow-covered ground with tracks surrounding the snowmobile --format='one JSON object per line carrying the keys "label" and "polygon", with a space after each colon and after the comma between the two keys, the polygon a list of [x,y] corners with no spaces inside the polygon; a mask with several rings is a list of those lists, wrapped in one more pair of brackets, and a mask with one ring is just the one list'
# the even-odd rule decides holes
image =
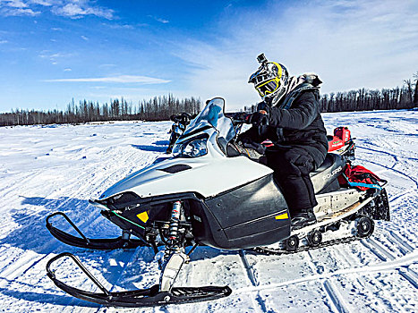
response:
{"label": "snow-covered ground with tracks surrounding the snowmobile", "polygon": [[[45,217],[64,211],[90,237],[118,236],[88,199],[164,154],[170,123],[0,128],[0,309],[10,312],[418,311],[418,111],[323,114],[348,126],[357,164],[387,179],[391,222],[370,239],[289,256],[200,247],[176,285],[225,285],[224,299],[150,309],[105,308],[55,287],[47,260],[81,258],[111,291],[158,283],[152,251],[91,251],[56,241]],[[63,228],[66,225],[63,223]],[[57,275],[90,283],[71,262]]]}

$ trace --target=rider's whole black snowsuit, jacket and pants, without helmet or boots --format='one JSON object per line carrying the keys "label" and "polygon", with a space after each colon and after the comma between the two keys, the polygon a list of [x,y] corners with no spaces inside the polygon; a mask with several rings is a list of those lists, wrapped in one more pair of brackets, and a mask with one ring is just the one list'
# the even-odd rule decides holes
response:
{"label": "rider's whole black snowsuit, jacket and pants, without helmet or boots", "polygon": [[261,102],[259,108],[269,113],[269,125],[252,127],[240,135],[241,140],[246,137],[260,143],[269,139],[274,143],[266,150],[267,165],[274,170],[292,216],[318,204],[309,173],[321,165],[328,152],[319,91],[303,85],[303,91],[291,92],[277,106]]}

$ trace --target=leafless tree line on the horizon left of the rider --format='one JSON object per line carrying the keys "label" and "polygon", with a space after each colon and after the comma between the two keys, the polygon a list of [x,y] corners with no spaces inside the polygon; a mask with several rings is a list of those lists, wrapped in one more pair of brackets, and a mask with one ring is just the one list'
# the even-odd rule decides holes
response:
{"label": "leafless tree line on the horizon left of the rider", "polygon": [[98,102],[83,100],[78,105],[72,101],[64,111],[60,110],[12,110],[0,114],[0,126],[33,125],[51,123],[87,123],[105,121],[164,121],[170,115],[180,112],[197,114],[200,112],[200,98],[179,99],[168,96],[142,100],[138,105],[127,102],[124,98],[100,105]]}

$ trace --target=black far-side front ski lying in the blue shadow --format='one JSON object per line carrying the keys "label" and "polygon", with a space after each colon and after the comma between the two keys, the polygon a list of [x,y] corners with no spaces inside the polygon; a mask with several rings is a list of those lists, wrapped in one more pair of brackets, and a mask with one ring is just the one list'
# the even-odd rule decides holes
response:
{"label": "black far-side front ski lying in the blue shadow", "polygon": [[[65,233],[64,231],[54,227],[49,219],[53,216],[64,216],[65,220],[71,224],[73,229],[80,234],[81,237],[73,236],[70,233]],[[147,244],[138,239],[124,238],[124,236],[117,238],[100,238],[100,239],[91,239],[87,238],[80,229],[73,224],[73,221],[66,216],[63,212],[55,212],[47,216],[47,229],[57,240],[62,241],[70,246],[93,249],[93,250],[115,250],[115,249],[134,249],[138,246],[146,246]]]}

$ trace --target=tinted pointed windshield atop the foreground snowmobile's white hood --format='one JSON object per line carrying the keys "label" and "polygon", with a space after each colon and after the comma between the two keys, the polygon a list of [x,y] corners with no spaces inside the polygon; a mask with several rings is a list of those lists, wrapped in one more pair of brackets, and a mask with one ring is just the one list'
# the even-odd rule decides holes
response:
{"label": "tinted pointed windshield atop the foreground snowmobile's white hood", "polygon": [[213,98],[200,114],[192,120],[183,135],[197,131],[201,127],[211,125],[218,131],[219,137],[229,142],[235,137],[236,131],[231,119],[225,116],[224,109],[225,100],[221,97]]}

